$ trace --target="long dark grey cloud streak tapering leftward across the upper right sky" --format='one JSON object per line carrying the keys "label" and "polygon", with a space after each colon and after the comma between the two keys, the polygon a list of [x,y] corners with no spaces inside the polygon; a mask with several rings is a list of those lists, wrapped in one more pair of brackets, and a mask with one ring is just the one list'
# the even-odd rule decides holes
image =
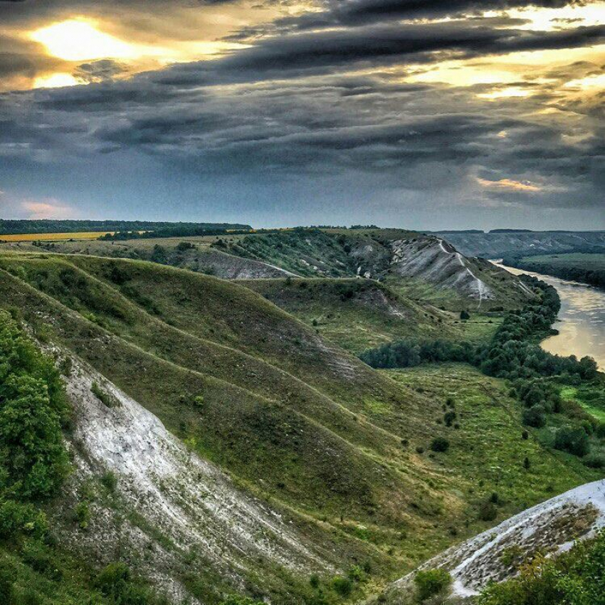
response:
{"label": "long dark grey cloud streak tapering leftward across the upper right sky", "polygon": [[515,51],[578,48],[605,41],[605,25],[564,31],[490,29],[465,21],[396,26],[366,26],[277,36],[218,61],[177,65],[152,75],[167,85],[288,78],[306,71],[322,73],[344,65],[401,61],[442,61],[446,52],[470,58]]}

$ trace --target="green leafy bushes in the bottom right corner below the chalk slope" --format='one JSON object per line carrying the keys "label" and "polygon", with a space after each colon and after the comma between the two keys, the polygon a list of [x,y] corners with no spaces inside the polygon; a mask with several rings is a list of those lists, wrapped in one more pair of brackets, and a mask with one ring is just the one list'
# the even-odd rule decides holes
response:
{"label": "green leafy bushes in the bottom right corner below the chalk slope", "polygon": [[558,557],[537,555],[507,582],[488,586],[477,605],[605,605],[605,532]]}

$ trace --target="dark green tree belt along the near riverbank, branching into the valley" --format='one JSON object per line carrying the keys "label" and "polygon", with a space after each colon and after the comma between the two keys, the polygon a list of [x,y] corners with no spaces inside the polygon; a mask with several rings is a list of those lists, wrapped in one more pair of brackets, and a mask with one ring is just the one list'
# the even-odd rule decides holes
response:
{"label": "dark green tree belt along the near riverbank, branching into the valley", "polygon": [[[554,438],[543,431],[545,443],[586,457],[586,465],[605,468],[605,423],[562,399],[562,392],[569,392],[570,384],[603,392],[596,363],[590,357],[559,357],[540,348],[535,341],[547,335],[559,311],[559,298],[552,286],[527,275],[522,279],[540,292],[540,298],[520,311],[508,312],[488,344],[401,340],[369,349],[359,357],[376,368],[465,362],[488,376],[507,379],[512,394],[525,406],[525,425],[536,429],[557,427]],[[591,450],[592,455],[587,456]]]}

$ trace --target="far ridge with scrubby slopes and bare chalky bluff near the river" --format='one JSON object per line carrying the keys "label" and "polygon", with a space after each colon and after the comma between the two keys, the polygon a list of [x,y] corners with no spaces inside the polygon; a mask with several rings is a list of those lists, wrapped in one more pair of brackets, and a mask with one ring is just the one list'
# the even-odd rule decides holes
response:
{"label": "far ridge with scrubby slopes and bare chalky bluff near the river", "polygon": [[[517,279],[448,243],[403,229],[295,228],[275,233],[222,234],[131,241],[38,244],[48,251],[152,261],[225,279],[353,278],[386,281],[421,305],[461,312],[522,306]],[[31,251],[32,246],[3,245]]]}

